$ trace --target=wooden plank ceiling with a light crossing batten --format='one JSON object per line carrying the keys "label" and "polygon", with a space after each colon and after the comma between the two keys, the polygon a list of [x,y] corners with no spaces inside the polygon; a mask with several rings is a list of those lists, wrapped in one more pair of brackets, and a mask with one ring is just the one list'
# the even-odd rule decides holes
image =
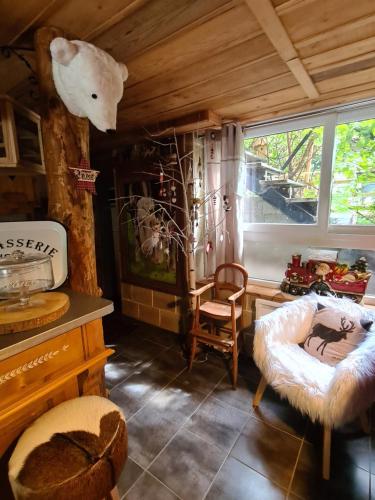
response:
{"label": "wooden plank ceiling with a light crossing batten", "polygon": [[[374,0],[1,2],[0,45],[42,25],[127,64],[119,137],[201,110],[251,123],[375,97]],[[1,57],[0,93],[30,101],[29,74]]]}

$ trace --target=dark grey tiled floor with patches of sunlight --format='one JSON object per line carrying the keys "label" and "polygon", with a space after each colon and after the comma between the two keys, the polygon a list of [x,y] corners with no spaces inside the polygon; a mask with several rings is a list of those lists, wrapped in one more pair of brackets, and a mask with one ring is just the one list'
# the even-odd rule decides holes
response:
{"label": "dark grey tiled floor with patches of sunlight", "polygon": [[356,425],[334,433],[323,481],[321,429],[271,389],[254,411],[259,372],[249,360],[233,391],[217,355],[189,373],[176,335],[115,316],[105,334],[116,350],[107,386],[129,433],[123,500],[375,500],[375,438]]}

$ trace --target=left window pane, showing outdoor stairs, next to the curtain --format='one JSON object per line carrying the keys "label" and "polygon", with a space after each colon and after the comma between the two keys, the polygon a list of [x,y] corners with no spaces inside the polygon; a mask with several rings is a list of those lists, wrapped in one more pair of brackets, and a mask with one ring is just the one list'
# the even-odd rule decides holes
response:
{"label": "left window pane, showing outdoor stairs, next to the curtain", "polygon": [[314,224],[323,127],[245,139],[245,222]]}

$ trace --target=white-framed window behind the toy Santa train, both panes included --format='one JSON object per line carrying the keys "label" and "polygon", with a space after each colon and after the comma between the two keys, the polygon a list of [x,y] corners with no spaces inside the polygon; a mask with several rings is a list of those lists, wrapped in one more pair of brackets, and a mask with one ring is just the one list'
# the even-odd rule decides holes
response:
{"label": "white-framed window behind the toy Santa train, both panes included", "polygon": [[[375,106],[245,131],[245,264],[280,282],[290,256],[366,256],[375,273]],[[369,282],[375,295],[375,277]]]}

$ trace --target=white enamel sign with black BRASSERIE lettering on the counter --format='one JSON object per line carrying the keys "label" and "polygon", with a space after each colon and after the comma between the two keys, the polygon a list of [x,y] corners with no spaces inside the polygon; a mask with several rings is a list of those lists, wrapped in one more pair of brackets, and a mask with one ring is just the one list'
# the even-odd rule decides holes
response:
{"label": "white enamel sign with black BRASSERIE lettering on the counter", "polygon": [[1,222],[0,258],[7,257],[14,250],[25,254],[49,255],[57,288],[64,283],[68,274],[67,241],[64,226],[52,221]]}

